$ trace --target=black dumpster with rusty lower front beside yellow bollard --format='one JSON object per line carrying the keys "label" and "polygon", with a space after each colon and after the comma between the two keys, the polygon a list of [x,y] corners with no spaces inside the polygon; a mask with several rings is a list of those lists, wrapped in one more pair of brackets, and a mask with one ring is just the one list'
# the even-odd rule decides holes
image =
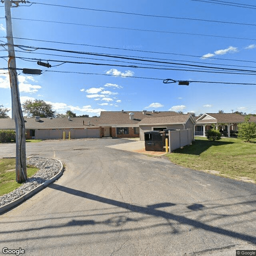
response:
{"label": "black dumpster with rusty lower front beside yellow bollard", "polygon": [[146,151],[164,151],[165,132],[150,131],[144,133]]}

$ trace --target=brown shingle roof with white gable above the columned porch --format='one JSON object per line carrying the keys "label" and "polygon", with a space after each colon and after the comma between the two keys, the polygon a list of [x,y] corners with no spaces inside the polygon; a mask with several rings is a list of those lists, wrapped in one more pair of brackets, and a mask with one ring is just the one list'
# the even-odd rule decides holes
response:
{"label": "brown shingle roof with white gable above the columned porch", "polygon": [[[215,119],[202,119],[196,120],[196,123],[242,123],[244,122],[244,116],[235,114],[235,113],[206,113],[208,116],[211,116]],[[203,115],[204,116],[204,115]],[[200,116],[203,117],[203,116]]]}

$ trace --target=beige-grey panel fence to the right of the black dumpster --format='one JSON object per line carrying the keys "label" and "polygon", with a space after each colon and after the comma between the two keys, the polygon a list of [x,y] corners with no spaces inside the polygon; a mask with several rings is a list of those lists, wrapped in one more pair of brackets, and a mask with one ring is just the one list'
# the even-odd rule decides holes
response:
{"label": "beige-grey panel fence to the right of the black dumpster", "polygon": [[184,147],[192,142],[192,130],[175,130],[169,132],[169,152]]}

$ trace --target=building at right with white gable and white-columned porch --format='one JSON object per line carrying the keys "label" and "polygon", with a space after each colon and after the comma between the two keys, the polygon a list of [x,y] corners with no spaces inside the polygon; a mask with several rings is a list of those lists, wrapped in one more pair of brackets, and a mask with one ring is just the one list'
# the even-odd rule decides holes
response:
{"label": "building at right with white gable and white-columned porch", "polygon": [[[252,116],[252,122],[256,121],[256,117]],[[195,136],[205,136],[207,130],[215,127],[222,131],[224,136],[230,137],[238,130],[237,124],[244,122],[244,116],[235,113],[205,113],[196,119],[194,127]]]}

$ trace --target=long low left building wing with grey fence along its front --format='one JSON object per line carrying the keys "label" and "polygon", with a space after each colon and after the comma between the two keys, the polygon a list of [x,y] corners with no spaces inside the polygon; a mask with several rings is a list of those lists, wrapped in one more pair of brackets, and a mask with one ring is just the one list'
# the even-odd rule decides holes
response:
{"label": "long low left building wing with grey fence along its front", "polygon": [[[100,118],[24,118],[26,139],[100,138]],[[0,129],[15,130],[15,121],[0,118]]]}

